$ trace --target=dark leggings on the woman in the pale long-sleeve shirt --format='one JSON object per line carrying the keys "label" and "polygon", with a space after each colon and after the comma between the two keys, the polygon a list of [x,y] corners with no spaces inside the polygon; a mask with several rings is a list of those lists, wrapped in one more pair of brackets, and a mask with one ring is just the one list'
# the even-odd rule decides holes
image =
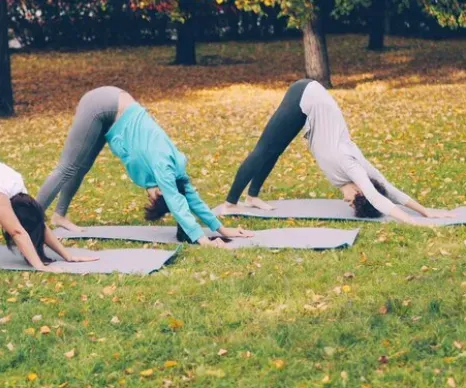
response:
{"label": "dark leggings on the woman in the pale long-sleeve shirt", "polygon": [[290,86],[277,111],[267,123],[254,151],[239,168],[227,202],[236,204],[251,180],[256,196],[280,155],[303,128],[306,121],[299,107],[304,89],[310,80],[300,80]]}

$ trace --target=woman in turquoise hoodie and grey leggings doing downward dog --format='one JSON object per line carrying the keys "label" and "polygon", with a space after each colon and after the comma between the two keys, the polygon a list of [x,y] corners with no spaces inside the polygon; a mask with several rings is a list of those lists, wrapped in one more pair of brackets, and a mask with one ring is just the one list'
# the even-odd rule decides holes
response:
{"label": "woman in turquoise hoodie and grey leggings doing downward dog", "polygon": [[[150,205],[146,219],[171,212],[193,242],[224,246],[209,240],[196,222],[197,215],[212,231],[225,237],[250,237],[241,228],[225,228],[201,200],[186,173],[186,157],[157,122],[128,93],[105,86],[86,93],[79,102],[60,162],[39,191],[37,200],[47,209],[60,193],[52,222],[80,231],[66,216],[68,206],[95,159],[108,142],[131,180],[146,189]],[[180,193],[182,187],[184,194]]]}

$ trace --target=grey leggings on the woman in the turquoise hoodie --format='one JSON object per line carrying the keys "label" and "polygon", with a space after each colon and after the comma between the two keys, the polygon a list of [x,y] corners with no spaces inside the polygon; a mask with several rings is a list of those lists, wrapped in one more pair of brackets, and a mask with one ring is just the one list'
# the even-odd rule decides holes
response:
{"label": "grey leggings on the woman in the turquoise hoodie", "polygon": [[65,216],[71,200],[105,145],[105,134],[115,122],[121,89],[104,86],[79,101],[58,166],[46,179],[37,201],[47,209],[60,193],[55,212]]}

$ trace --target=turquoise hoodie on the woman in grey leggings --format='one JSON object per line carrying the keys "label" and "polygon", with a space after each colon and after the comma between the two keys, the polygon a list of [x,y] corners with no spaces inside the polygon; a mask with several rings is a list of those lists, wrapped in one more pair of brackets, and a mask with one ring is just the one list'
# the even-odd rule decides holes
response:
{"label": "turquoise hoodie on the woman in grey leggings", "polygon": [[[144,189],[158,187],[162,191],[168,209],[192,241],[204,236],[192,213],[212,231],[222,226],[189,183],[186,156],[140,104],[126,108],[105,138],[136,185]],[[178,179],[187,181],[185,195],[178,192]]]}

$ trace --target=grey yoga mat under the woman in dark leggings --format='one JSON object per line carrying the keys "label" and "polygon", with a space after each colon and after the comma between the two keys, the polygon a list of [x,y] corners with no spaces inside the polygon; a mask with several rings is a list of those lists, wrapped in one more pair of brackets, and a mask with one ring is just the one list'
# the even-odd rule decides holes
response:
{"label": "grey yoga mat under the woman in dark leggings", "polygon": [[[346,220],[346,221],[370,221],[386,222],[394,221],[391,217],[381,218],[358,218],[354,216],[353,209],[340,199],[285,199],[280,201],[268,201],[274,206],[274,210],[260,210],[245,207],[244,211],[231,212],[224,216],[241,216],[257,218],[295,218],[295,219],[319,219],[319,220]],[[222,205],[213,211],[220,215]],[[406,212],[419,217],[420,222],[434,223],[437,225],[459,225],[466,224],[466,207],[452,210],[455,218],[430,218],[426,219],[410,209],[404,208]]]}

